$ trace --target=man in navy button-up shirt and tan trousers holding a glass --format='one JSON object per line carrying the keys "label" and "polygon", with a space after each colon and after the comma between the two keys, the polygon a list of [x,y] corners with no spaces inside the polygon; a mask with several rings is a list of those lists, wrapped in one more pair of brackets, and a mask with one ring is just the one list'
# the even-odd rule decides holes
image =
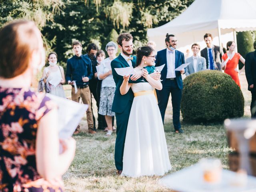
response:
{"label": "man in navy button-up shirt and tan trousers holding a glass", "polygon": [[[92,62],[88,57],[82,55],[82,44],[79,41],[72,43],[72,49],[75,55],[67,61],[66,80],[72,85],[71,98],[73,101],[79,102],[80,98],[84,104],[88,104],[86,111],[88,131],[91,134],[96,132],[93,130],[93,119],[91,109],[91,92],[89,89],[89,80],[92,79]],[[74,81],[76,82],[77,92],[75,93]],[[79,127],[79,126],[78,126]],[[76,133],[79,132],[77,128]]]}

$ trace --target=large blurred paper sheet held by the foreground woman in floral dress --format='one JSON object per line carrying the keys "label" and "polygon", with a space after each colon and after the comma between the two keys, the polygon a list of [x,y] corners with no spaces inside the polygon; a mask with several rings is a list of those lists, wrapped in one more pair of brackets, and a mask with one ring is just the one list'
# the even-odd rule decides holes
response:
{"label": "large blurred paper sheet held by the foreground woman in floral dress", "polygon": [[88,105],[80,104],[48,93],[46,96],[51,98],[58,105],[59,138],[70,138],[86,113]]}

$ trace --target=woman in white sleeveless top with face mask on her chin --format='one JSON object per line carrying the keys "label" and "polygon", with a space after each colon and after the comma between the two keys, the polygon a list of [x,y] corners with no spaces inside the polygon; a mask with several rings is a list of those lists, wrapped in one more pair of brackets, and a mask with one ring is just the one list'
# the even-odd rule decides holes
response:
{"label": "woman in white sleeveless top with face mask on her chin", "polygon": [[42,78],[50,85],[50,94],[66,98],[62,84],[65,83],[64,70],[62,66],[57,65],[56,52],[48,54],[49,66],[44,68]]}

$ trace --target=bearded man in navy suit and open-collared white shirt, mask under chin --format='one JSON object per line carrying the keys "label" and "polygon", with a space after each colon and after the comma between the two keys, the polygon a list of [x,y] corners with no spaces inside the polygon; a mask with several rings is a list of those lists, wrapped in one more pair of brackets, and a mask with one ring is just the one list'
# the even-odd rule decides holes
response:
{"label": "bearded man in navy suit and open-collared white shirt, mask under chin", "polygon": [[178,50],[176,36],[166,34],[166,49],[158,51],[156,55],[156,66],[166,64],[162,70],[163,89],[158,91],[158,106],[164,123],[164,115],[168,104],[169,96],[172,95],[172,119],[176,133],[183,133],[180,126],[180,102],[182,96],[183,82],[181,74],[185,70],[176,71],[180,65],[185,63],[184,54]]}

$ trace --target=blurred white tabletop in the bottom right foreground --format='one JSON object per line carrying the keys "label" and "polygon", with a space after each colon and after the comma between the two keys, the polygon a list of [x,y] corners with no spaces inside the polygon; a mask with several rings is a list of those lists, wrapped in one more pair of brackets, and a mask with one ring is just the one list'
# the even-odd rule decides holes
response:
{"label": "blurred white tabletop in the bottom right foreground", "polygon": [[248,176],[244,186],[232,184],[235,172],[222,170],[219,184],[208,184],[203,181],[199,164],[184,168],[160,179],[160,184],[178,192],[256,192],[256,177]]}

